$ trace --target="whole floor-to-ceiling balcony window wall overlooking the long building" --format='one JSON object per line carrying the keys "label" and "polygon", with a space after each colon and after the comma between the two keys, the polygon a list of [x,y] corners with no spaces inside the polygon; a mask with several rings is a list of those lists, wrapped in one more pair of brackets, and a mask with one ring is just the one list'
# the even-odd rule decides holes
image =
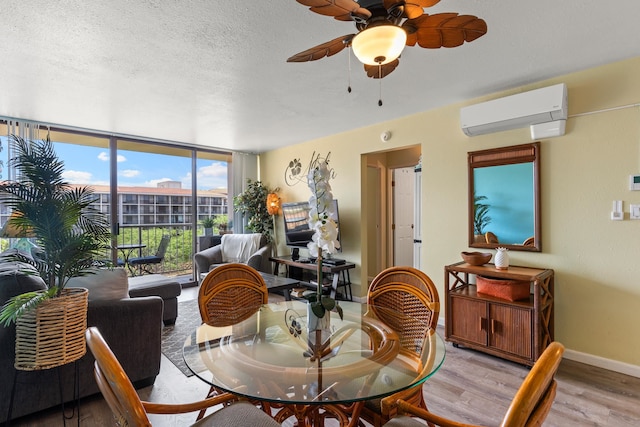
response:
{"label": "whole floor-to-ceiling balcony window wall overlooking the long building", "polygon": [[[8,134],[0,122],[0,167],[4,166],[0,180],[9,177]],[[114,236],[105,258],[114,263],[154,255],[162,237],[169,236],[158,272],[190,274],[197,236],[203,233],[200,221],[211,216],[220,229],[227,224],[230,153],[42,127],[37,139],[47,135],[65,163],[65,180],[91,186],[95,206],[109,216]],[[0,206],[0,225],[9,215]],[[126,245],[138,247],[128,252],[118,249]]]}

